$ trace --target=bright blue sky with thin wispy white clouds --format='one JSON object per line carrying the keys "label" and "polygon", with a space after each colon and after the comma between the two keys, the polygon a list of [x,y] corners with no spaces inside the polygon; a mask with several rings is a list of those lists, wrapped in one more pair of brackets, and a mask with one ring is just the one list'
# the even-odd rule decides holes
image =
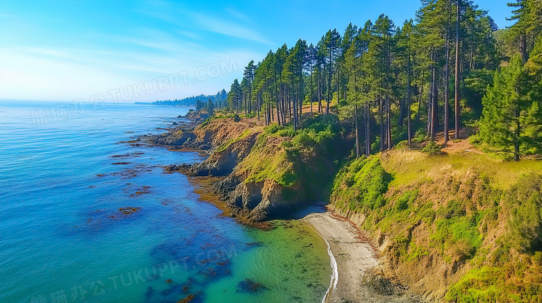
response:
{"label": "bright blue sky with thin wispy white clouds", "polygon": [[[499,28],[509,0],[475,0]],[[147,102],[216,94],[299,38],[363,26],[384,13],[401,25],[420,0],[3,0],[0,99]],[[105,100],[104,100],[105,99]]]}

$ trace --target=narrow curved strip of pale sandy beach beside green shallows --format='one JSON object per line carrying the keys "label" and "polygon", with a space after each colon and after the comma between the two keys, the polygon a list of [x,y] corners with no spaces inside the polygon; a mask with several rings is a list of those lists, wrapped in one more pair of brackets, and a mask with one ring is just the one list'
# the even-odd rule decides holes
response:
{"label": "narrow curved strip of pale sandy beach beside green shallows", "polygon": [[310,223],[329,243],[332,266],[334,259],[336,261],[336,272],[325,302],[359,302],[363,297],[363,275],[377,266],[378,252],[350,221],[331,211],[312,213],[302,220]]}

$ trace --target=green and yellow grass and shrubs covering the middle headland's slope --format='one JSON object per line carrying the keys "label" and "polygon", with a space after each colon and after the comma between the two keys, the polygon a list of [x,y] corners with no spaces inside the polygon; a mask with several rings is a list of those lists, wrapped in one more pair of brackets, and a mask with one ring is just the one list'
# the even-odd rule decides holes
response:
{"label": "green and yellow grass and shrubs covering the middle headland's slope", "polygon": [[313,192],[326,188],[333,178],[341,131],[331,114],[305,119],[298,130],[292,125],[270,125],[258,135],[238,172],[247,175],[245,182],[274,180],[286,188],[303,180],[307,196],[315,196]]}

